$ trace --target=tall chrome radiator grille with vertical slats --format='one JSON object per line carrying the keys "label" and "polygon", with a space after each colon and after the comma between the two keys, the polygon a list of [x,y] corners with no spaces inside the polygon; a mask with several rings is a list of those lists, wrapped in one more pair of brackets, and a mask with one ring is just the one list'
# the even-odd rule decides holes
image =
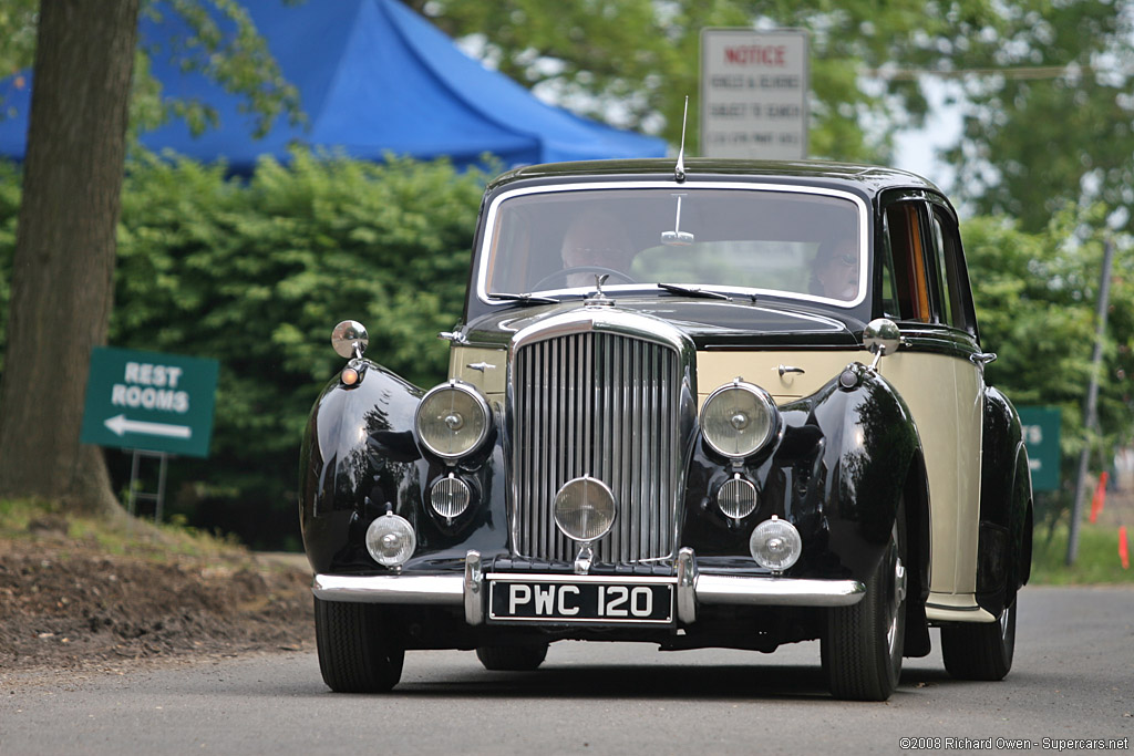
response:
{"label": "tall chrome radiator grille with vertical slats", "polygon": [[577,545],[552,518],[556,492],[582,475],[615,494],[599,562],[671,557],[679,472],[678,355],[669,347],[583,332],[522,346],[513,365],[513,536],[521,557],[572,561]]}

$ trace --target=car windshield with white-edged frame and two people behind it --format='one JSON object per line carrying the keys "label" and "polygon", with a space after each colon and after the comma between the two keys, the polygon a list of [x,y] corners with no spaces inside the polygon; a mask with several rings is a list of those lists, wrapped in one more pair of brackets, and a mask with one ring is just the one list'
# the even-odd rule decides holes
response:
{"label": "car windshield with white-edged frame and two people behind it", "polygon": [[491,205],[480,295],[676,287],[849,307],[865,296],[865,206],[799,187],[637,185],[506,193]]}

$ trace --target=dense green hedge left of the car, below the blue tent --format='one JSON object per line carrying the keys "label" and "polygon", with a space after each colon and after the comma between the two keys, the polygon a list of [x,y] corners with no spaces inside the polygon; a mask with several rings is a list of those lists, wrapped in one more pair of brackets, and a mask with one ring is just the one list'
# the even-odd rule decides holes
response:
{"label": "dense green hedge left of the car, below the blue tent", "polygon": [[[297,545],[303,426],[342,364],[331,328],[362,321],[369,357],[424,387],[442,380],[437,333],[460,316],[483,184],[445,162],[303,152],[287,167],[262,162],[246,181],[185,160],[132,163],[110,343],[221,365],[211,458],[170,465],[169,511],[253,546]],[[3,313],[17,187],[3,168]],[[108,461],[125,485],[128,456]]]}

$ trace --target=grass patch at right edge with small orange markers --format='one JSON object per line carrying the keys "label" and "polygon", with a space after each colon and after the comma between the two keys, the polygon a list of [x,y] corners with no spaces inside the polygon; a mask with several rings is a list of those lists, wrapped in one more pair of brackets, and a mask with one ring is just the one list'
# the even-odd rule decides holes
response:
{"label": "grass patch at right edge with small orange markers", "polygon": [[[1035,530],[1032,555],[1033,585],[1134,584],[1134,567],[1123,569],[1118,559],[1118,528],[1083,523],[1078,530],[1075,563],[1067,566],[1067,525],[1056,526],[1051,537],[1046,527]],[[1127,538],[1134,533],[1127,528]]]}

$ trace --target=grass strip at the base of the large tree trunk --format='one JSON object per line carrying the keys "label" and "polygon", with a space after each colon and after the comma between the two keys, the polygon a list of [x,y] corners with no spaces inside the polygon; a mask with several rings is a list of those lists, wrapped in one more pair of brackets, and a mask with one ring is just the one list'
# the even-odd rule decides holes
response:
{"label": "grass strip at the base of the large tree trunk", "polygon": [[232,537],[218,537],[178,523],[154,525],[130,517],[107,520],[68,513],[58,504],[43,501],[0,500],[0,541],[45,537],[154,561],[247,557],[247,551]]}

